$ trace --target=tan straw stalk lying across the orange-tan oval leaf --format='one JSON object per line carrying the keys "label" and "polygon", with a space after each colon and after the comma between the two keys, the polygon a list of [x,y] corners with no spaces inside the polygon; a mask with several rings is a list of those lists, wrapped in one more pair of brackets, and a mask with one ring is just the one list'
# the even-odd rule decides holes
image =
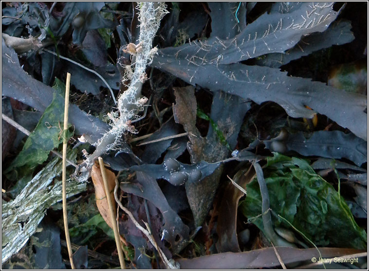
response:
{"label": "tan straw stalk lying across the orange-tan oval leaf", "polygon": [[103,158],[101,158],[101,157],[99,157],[98,159],[99,159],[99,164],[100,164],[101,176],[103,177],[104,186],[105,186],[105,195],[106,195],[106,198],[108,200],[110,217],[111,217],[111,225],[113,227],[113,232],[114,232],[114,237],[115,237],[115,244],[117,246],[120,267],[122,269],[126,269],[126,264],[124,262],[124,257],[123,257],[123,252],[122,252],[122,246],[120,244],[118,227],[117,227],[116,221],[114,219],[114,210],[113,210],[113,205],[111,204],[111,195],[110,195],[111,191],[109,191],[108,180],[107,180],[106,173],[105,173],[104,161],[103,161]]}

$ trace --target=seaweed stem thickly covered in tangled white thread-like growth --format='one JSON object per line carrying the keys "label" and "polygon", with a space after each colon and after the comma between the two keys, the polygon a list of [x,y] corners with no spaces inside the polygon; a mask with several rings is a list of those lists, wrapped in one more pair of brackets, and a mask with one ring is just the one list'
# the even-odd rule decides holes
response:
{"label": "seaweed stem thickly covered in tangled white thread-like growth", "polygon": [[124,82],[129,79],[130,83],[127,90],[118,98],[117,110],[108,113],[111,129],[96,142],[96,150],[87,157],[85,163],[88,168],[98,156],[116,148],[124,132],[136,132],[131,121],[137,118],[138,113],[145,107],[141,96],[143,79],[147,79],[145,69],[157,52],[157,48],[152,48],[152,40],[160,26],[161,19],[168,12],[164,2],[141,2],[138,3],[137,9],[140,22],[140,50],[132,52],[135,56],[134,68],[131,65],[129,69],[126,69],[122,80]]}

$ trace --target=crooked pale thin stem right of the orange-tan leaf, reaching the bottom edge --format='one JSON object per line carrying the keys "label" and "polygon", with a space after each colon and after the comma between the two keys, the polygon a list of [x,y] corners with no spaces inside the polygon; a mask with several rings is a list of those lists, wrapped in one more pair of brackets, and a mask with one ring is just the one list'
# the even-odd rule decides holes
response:
{"label": "crooked pale thin stem right of the orange-tan leaf, reaching the bottom edge", "polygon": [[163,260],[164,264],[166,265],[166,268],[168,269],[179,269],[179,266],[176,264],[173,264],[171,261],[169,261],[166,258],[166,255],[163,253],[163,251],[161,250],[161,248],[158,246],[158,244],[156,243],[155,239],[151,236],[151,230],[148,227],[148,223],[144,222],[146,225],[146,229],[144,229],[140,223],[138,223],[138,221],[134,218],[134,216],[132,215],[132,213],[123,206],[123,204],[119,201],[118,199],[118,195],[117,195],[117,191],[118,191],[118,179],[115,178],[115,188],[114,188],[114,198],[116,203],[118,203],[119,207],[126,212],[126,214],[129,216],[129,218],[132,220],[132,222],[136,225],[136,227],[148,238],[148,240],[150,241],[150,243],[154,246],[154,248],[158,251],[160,258]]}

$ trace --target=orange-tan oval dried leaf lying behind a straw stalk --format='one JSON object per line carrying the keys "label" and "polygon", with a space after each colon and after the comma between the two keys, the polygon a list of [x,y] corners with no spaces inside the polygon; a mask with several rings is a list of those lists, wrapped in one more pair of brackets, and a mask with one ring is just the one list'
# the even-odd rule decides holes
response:
{"label": "orange-tan oval dried leaf lying behind a straw stalk", "polygon": [[[114,194],[113,194],[114,187],[115,187],[115,174],[109,169],[105,169],[105,172],[107,176],[108,188],[109,188],[109,191],[111,191],[111,203],[113,205],[114,220],[115,220],[116,203],[115,203]],[[92,177],[93,186],[95,187],[95,197],[96,197],[97,208],[99,209],[99,212],[101,216],[103,217],[103,219],[106,221],[109,227],[112,228],[108,200],[105,194],[104,181],[101,175],[100,167],[98,165],[93,165],[92,170],[91,170],[91,177]]]}

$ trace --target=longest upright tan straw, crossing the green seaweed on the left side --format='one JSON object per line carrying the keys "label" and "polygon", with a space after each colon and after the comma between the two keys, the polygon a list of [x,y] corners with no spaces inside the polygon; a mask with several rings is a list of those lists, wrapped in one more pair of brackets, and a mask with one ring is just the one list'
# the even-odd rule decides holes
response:
{"label": "longest upright tan straw, crossing the green seaweed on the left side", "polygon": [[[64,131],[68,129],[68,108],[69,108],[69,86],[71,83],[71,74],[67,72],[67,82],[65,83],[65,103],[64,103]],[[67,172],[66,172],[66,158],[67,158],[67,138],[63,138],[63,163],[62,163],[62,199],[63,199],[63,221],[64,221],[64,231],[65,240],[67,241],[67,248],[69,254],[69,260],[71,261],[72,269],[75,269],[73,263],[73,253],[71,246],[71,239],[69,237],[68,228],[68,213],[67,213]]]}

